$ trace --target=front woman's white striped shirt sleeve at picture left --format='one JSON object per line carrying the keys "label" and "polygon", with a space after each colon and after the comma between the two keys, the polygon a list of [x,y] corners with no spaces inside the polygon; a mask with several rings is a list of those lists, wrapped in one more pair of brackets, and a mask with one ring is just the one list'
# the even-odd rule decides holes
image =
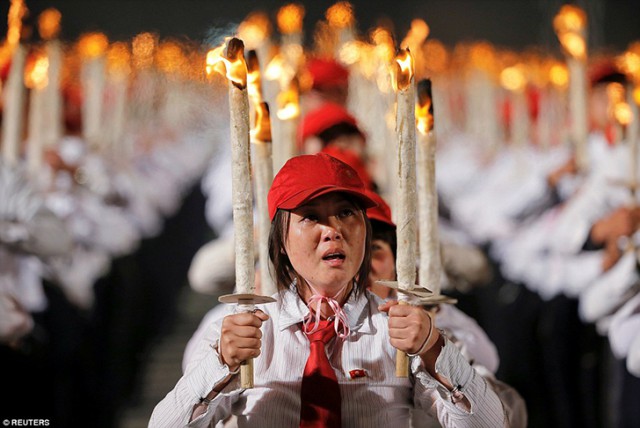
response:
{"label": "front woman's white striped shirt sleeve at picture left", "polygon": [[231,412],[231,405],[243,391],[239,376],[231,379],[208,405],[198,407],[198,414],[189,422],[196,406],[216,386],[229,376],[229,367],[223,364],[217,352],[219,323],[212,326],[202,339],[192,362],[176,386],[153,410],[149,427],[209,427],[223,420]]}

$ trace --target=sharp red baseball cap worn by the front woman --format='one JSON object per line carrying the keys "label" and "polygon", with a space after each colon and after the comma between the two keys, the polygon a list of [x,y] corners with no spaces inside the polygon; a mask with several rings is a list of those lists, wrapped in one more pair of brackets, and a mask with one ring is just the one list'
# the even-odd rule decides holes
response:
{"label": "sharp red baseball cap worn by the front woman", "polygon": [[331,192],[354,196],[364,209],[376,205],[346,163],[326,153],[300,155],[289,159],[273,179],[267,196],[269,217],[273,220],[278,209],[292,210]]}

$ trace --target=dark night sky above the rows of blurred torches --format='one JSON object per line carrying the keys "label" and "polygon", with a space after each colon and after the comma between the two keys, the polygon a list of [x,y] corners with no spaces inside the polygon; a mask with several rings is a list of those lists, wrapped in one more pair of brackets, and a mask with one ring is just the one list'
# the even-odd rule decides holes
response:
{"label": "dark night sky above the rows of blurred torches", "polygon": [[[2,0],[6,17],[10,0]],[[112,40],[129,39],[143,31],[162,37],[205,40],[212,28],[231,29],[256,9],[275,17],[290,2],[267,0],[27,0],[31,21],[47,7],[62,12],[62,38],[75,39],[82,32],[100,30]],[[315,22],[334,1],[299,2],[306,9],[307,42]],[[411,19],[422,18],[431,36],[452,46],[457,42],[487,40],[506,48],[537,45],[558,50],[552,29],[553,16],[565,2],[559,0],[358,0],[354,5],[358,30],[366,32],[381,20],[393,23],[402,38]],[[582,0],[586,10],[589,44],[595,50],[624,50],[640,39],[640,0]],[[6,34],[6,18],[0,31]],[[230,31],[226,32],[229,33]]]}

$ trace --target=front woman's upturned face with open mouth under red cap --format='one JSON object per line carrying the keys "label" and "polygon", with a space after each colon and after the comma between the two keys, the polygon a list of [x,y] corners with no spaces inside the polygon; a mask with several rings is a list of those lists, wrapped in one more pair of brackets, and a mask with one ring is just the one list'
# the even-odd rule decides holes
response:
{"label": "front woman's upturned face with open mouth under red cap", "polygon": [[331,296],[360,269],[366,233],[362,210],[343,195],[328,193],[291,211],[285,250],[296,272]]}

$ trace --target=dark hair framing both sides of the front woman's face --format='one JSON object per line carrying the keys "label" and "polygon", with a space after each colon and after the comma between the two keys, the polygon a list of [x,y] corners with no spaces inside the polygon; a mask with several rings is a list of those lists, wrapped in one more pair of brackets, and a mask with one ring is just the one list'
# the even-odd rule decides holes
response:
{"label": "dark hair framing both sides of the front woman's face", "polygon": [[[362,259],[362,265],[355,276],[356,287],[354,289],[354,293],[357,294],[367,288],[367,277],[369,276],[369,270],[371,269],[371,223],[367,218],[365,210],[360,207],[357,200],[348,196],[345,197],[360,208],[366,226],[364,258]],[[289,256],[285,251],[285,242],[288,237],[290,219],[290,211],[279,209],[276,212],[273,221],[271,221],[271,231],[269,232],[269,259],[273,264],[275,274],[272,272],[272,276],[276,279],[278,290],[288,289],[294,280],[297,281],[297,284],[301,284],[303,281],[291,265]]]}

